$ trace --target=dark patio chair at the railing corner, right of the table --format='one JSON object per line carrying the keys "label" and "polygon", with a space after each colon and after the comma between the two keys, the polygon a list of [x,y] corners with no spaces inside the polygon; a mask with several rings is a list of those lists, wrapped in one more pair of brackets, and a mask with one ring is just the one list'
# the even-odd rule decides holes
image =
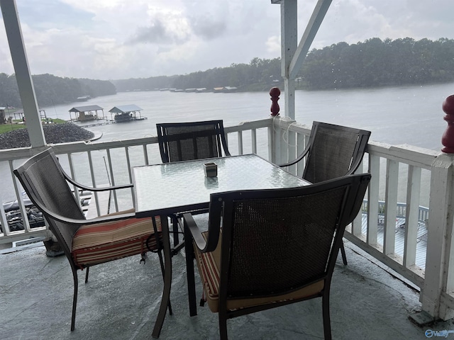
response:
{"label": "dark patio chair at the railing corner, right of the table", "polygon": [[[360,166],[369,137],[370,131],[367,130],[314,122],[304,151],[297,159],[279,166],[291,166],[305,158],[303,179],[311,183],[350,175]],[[346,265],[343,244],[341,254]]]}

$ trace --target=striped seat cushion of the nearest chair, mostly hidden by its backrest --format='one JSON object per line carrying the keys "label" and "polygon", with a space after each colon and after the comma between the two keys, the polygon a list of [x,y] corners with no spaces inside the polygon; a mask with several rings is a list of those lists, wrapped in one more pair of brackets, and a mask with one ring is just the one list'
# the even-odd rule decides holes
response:
{"label": "striped seat cushion of the nearest chair, mostly hidden by its backrest", "polygon": [[[208,232],[204,232],[202,234],[204,235],[205,239],[208,237]],[[211,312],[218,312],[219,310],[219,268],[221,263],[221,237],[222,229],[219,233],[218,246],[214,251],[211,251],[209,253],[201,253],[196,244],[194,244],[195,259],[197,266],[199,267],[202,284],[204,285],[206,302],[208,302]],[[277,301],[294,300],[303,297],[309,297],[311,295],[320,293],[321,290],[323,290],[323,287],[324,280],[319,280],[316,283],[311,283],[311,285],[307,285],[304,288],[283,295],[227,300],[227,309],[238,310],[240,308],[265,305]]]}

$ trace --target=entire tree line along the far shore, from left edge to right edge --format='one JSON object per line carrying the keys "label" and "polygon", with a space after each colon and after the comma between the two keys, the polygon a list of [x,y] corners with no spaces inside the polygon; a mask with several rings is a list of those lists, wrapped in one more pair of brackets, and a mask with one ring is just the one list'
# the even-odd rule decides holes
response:
{"label": "entire tree line along the far shore, from left edge to right edge", "polygon": [[[33,76],[40,107],[70,103],[79,96],[104,96],[116,91],[153,89],[213,89],[236,86],[239,91],[267,91],[281,86],[280,58],[253,58],[249,64],[231,64],[176,76],[101,81]],[[454,81],[454,40],[371,38],[349,45],[338,42],[313,49],[301,67],[297,89],[342,89]],[[21,107],[14,75],[0,74],[0,106]]]}

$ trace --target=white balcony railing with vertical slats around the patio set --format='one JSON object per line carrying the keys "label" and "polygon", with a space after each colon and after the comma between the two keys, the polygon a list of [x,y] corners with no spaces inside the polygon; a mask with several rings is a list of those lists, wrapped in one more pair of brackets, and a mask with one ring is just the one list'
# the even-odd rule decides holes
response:
{"label": "white balcony railing with vertical slats around the patio set", "polygon": [[[226,127],[226,133],[231,154],[254,152],[279,164],[293,159],[304,149],[310,130],[293,120],[267,118]],[[88,186],[131,183],[131,166],[160,162],[157,137],[96,144],[67,143],[52,145],[52,148],[68,174]],[[23,162],[23,159],[41,149],[43,147],[2,151],[0,152],[1,169],[9,169],[11,173],[15,166]],[[370,188],[365,198],[367,204],[364,205],[362,214],[358,215],[345,232],[345,238],[421,288],[421,301],[424,305],[424,299],[426,299],[429,312],[431,306],[437,303],[433,302],[434,300],[443,300],[445,314],[438,313],[434,316],[448,318],[450,315],[448,311],[454,307],[454,298],[447,289],[449,285],[445,283],[443,288],[443,280],[442,282],[432,280],[432,277],[428,278],[427,275],[428,271],[431,271],[431,275],[435,275],[433,268],[441,268],[437,264],[438,261],[449,263],[451,257],[450,247],[441,247],[433,241],[440,242],[440,239],[446,239],[446,228],[443,225],[452,227],[452,221],[450,224],[445,222],[443,213],[437,212],[439,208],[433,206],[433,202],[436,201],[438,204],[446,204],[448,189],[440,191],[437,185],[433,184],[441,181],[442,175],[437,169],[440,167],[445,169],[446,162],[449,162],[446,159],[443,160],[443,157],[446,155],[438,156],[438,152],[427,149],[370,142],[362,167],[360,166],[358,170],[372,174]],[[288,170],[299,175],[303,170],[303,164]],[[434,171],[438,176],[436,181],[432,178]],[[443,171],[441,172],[444,174]],[[448,181],[450,176],[448,172],[445,176]],[[11,181],[11,189],[21,202],[22,189],[12,173],[9,181]],[[450,190],[452,191],[452,188]],[[435,198],[439,193],[445,197]],[[429,196],[431,196],[430,205],[427,204]],[[421,208],[420,200],[423,199],[426,200],[425,205],[429,208]],[[115,210],[131,208],[132,191],[117,192],[113,202],[112,208]],[[101,198],[92,197],[91,205],[96,207],[98,215],[104,212],[101,209],[101,203]],[[20,204],[20,209],[23,215],[26,215],[23,203]],[[3,207],[0,207],[0,211],[0,222],[4,230],[4,233],[0,234],[0,244],[36,236],[49,236],[46,227],[31,228],[27,218],[23,219],[23,230],[10,231]],[[452,217],[450,218],[452,220]],[[398,219],[404,222],[397,225]],[[426,235],[421,235],[419,230],[421,222],[428,230]],[[401,234],[397,233],[397,227],[401,227],[401,230],[398,230]],[[433,238],[432,241],[431,238]],[[418,265],[417,253],[421,253],[421,239],[426,242],[424,248],[427,250],[426,254],[423,254],[426,262],[421,265],[420,261]],[[398,246],[399,242],[402,242],[401,246]],[[431,246],[436,249],[431,249]],[[443,251],[440,248],[443,248]],[[435,263],[428,261],[435,261]],[[445,266],[443,268],[446,269]],[[449,266],[448,273],[451,273]]]}

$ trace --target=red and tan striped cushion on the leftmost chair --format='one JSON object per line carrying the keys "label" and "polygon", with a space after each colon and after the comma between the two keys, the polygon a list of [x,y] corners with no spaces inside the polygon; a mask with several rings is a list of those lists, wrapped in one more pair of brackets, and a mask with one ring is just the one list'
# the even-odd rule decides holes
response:
{"label": "red and tan striped cushion on the leftmost chair", "polygon": [[[155,217],[162,239],[160,217]],[[79,268],[94,266],[148,251],[147,239],[153,235],[150,217],[128,218],[114,222],[82,225],[72,239],[72,258]],[[150,249],[157,249],[156,238],[150,237]]]}

